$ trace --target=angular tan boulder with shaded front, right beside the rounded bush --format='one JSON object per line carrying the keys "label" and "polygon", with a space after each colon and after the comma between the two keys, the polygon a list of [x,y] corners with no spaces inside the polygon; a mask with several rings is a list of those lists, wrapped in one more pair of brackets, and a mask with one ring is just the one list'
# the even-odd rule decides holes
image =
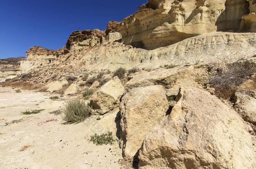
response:
{"label": "angular tan boulder with shaded front, right beside the rounded bush", "polygon": [[96,114],[106,114],[119,106],[120,96],[123,93],[125,93],[125,89],[120,79],[115,76],[91,96],[90,106]]}

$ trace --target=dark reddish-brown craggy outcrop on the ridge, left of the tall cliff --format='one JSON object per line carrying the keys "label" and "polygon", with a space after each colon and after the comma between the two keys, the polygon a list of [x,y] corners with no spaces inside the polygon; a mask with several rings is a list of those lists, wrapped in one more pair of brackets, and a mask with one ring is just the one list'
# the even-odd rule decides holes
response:
{"label": "dark reddish-brown craggy outcrop on the ridge, left of the tall cliff", "polygon": [[101,43],[102,37],[105,36],[104,31],[99,29],[94,30],[76,30],[69,36],[66,48],[71,49],[75,44],[81,46],[94,46]]}

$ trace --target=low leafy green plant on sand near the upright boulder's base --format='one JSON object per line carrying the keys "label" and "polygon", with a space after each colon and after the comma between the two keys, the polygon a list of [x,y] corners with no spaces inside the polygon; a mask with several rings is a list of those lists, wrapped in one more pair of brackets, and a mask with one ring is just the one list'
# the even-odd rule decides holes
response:
{"label": "low leafy green plant on sand near the upright boulder's base", "polygon": [[94,134],[91,136],[90,141],[99,146],[103,144],[113,144],[115,140],[113,139],[112,132],[107,131],[107,133],[102,135]]}

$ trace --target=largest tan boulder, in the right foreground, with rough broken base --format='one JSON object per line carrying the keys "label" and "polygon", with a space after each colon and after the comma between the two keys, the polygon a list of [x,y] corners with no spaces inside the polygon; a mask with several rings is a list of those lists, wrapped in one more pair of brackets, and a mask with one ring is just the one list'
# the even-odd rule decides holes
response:
{"label": "largest tan boulder, in the right foreground, with rough broken base", "polygon": [[253,169],[243,120],[217,97],[183,88],[168,119],[152,128],[139,151],[141,169]]}

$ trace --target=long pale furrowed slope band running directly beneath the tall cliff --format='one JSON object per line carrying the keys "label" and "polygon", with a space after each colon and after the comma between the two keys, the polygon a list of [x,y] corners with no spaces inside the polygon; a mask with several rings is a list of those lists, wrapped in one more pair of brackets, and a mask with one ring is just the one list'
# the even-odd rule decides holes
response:
{"label": "long pale furrowed slope band running directly beneath the tall cliff", "polygon": [[155,50],[133,48],[122,43],[108,43],[93,48],[74,49],[60,58],[67,67],[89,70],[120,67],[131,69],[159,68],[165,65],[185,66],[217,61],[237,61],[256,53],[255,33],[209,33],[185,39],[179,43]]}

